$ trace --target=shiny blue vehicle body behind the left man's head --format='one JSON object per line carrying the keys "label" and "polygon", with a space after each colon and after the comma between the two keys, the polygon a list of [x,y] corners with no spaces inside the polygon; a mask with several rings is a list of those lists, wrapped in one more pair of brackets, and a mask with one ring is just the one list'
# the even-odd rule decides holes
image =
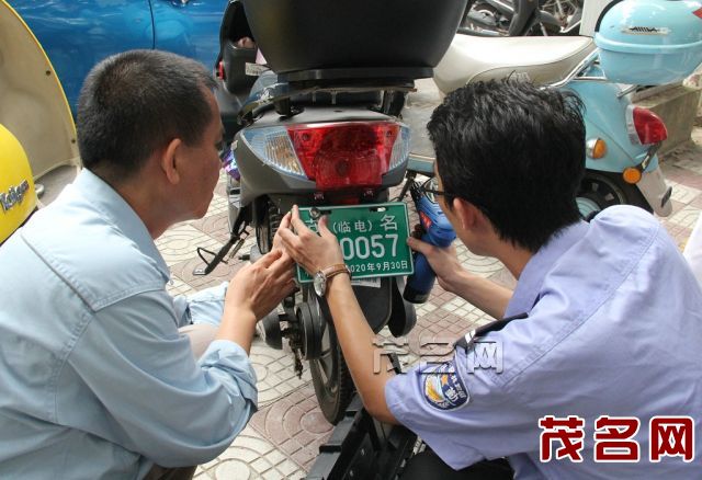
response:
{"label": "shiny blue vehicle body behind the left man's head", "polygon": [[83,80],[103,58],[157,48],[212,68],[228,0],[10,0],[58,75],[73,115]]}

